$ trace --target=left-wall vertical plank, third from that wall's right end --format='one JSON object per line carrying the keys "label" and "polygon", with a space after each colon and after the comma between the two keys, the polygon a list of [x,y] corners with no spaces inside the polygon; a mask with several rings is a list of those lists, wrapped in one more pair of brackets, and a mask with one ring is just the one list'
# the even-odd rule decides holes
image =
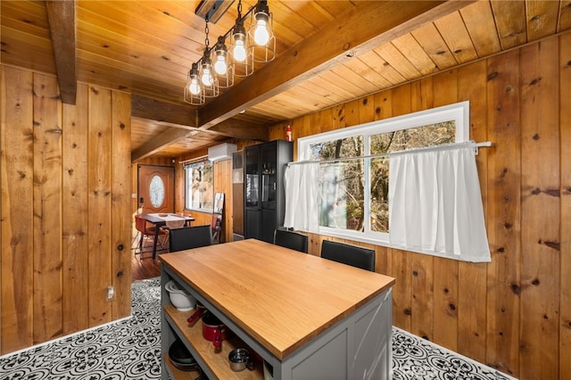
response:
{"label": "left-wall vertical plank, third from that wall's right end", "polygon": [[75,105],[63,104],[62,282],[63,334],[89,326],[87,230],[88,87],[79,84]]}

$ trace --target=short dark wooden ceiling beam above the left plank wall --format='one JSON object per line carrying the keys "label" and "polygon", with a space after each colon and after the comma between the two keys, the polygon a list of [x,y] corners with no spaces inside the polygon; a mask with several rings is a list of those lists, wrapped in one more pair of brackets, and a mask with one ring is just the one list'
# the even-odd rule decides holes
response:
{"label": "short dark wooden ceiling beam above the left plank wall", "polygon": [[47,20],[54,48],[55,72],[60,85],[62,102],[75,104],[77,95],[76,68],[76,2],[46,1]]}

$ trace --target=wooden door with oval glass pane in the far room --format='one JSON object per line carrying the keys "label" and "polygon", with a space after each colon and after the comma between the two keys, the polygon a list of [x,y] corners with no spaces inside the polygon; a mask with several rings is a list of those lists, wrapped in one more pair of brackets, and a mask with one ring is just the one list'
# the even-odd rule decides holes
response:
{"label": "wooden door with oval glass pane in the far room", "polygon": [[170,166],[138,166],[138,205],[143,213],[174,212],[175,169]]}

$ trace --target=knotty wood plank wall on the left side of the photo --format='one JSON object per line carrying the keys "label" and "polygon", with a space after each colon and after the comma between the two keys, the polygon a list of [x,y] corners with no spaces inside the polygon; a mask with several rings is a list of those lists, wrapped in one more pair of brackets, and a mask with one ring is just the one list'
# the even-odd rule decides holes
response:
{"label": "knotty wood plank wall on the left side of the photo", "polygon": [[130,315],[130,95],[9,66],[0,94],[4,354]]}

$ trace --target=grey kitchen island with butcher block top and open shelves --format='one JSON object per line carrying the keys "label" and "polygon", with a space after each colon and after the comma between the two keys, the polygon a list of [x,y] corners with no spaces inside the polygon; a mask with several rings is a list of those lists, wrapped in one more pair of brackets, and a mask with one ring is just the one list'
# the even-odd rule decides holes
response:
{"label": "grey kitchen island with butcher block top and open shelves", "polygon": [[[186,323],[164,285],[174,280],[218,317],[233,337],[222,351]],[[260,378],[233,372],[228,351],[247,347],[274,379],[390,378],[392,277],[254,239],[161,255],[162,377],[178,378],[170,343],[179,338],[209,378]]]}

